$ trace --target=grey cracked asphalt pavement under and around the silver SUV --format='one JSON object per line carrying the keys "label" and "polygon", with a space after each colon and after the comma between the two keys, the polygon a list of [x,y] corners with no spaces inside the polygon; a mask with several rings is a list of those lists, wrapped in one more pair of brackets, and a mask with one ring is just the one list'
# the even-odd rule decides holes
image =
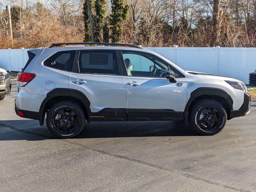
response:
{"label": "grey cracked asphalt pavement under and around the silver SUV", "polygon": [[182,122],[92,122],[73,139],[0,101],[0,191],[256,191],[256,100],[214,136]]}

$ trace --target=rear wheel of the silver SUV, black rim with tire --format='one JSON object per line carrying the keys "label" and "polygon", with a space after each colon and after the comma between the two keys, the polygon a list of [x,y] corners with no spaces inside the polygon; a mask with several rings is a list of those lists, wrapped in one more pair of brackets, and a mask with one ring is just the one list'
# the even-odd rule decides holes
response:
{"label": "rear wheel of the silver SUV, black rim with tire", "polygon": [[56,137],[73,138],[84,130],[87,121],[79,104],[61,101],[50,108],[46,116],[46,124]]}

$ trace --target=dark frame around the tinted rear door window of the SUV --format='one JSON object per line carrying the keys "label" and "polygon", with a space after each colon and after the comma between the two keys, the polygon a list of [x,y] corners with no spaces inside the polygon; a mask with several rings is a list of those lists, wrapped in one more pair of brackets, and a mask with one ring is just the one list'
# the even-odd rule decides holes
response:
{"label": "dark frame around the tinted rear door window of the SUV", "polygon": [[[118,65],[118,71],[119,74],[106,74],[106,73],[88,73],[88,72],[80,72],[79,68],[79,57],[81,52],[114,52],[116,54],[116,62]],[[79,74],[98,74],[98,75],[114,75],[114,76],[123,76],[123,70],[122,70],[122,65],[120,62],[120,55],[117,50],[103,50],[103,49],[93,49],[93,50],[76,50],[76,56],[75,56],[75,61],[73,65],[73,70],[72,72],[74,73],[79,73]]]}

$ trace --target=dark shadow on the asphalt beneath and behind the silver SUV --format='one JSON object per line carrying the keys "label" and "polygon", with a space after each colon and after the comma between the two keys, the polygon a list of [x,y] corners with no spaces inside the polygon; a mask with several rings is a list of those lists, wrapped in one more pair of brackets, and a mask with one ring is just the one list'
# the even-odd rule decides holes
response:
{"label": "dark shadow on the asphalt beneath and behind the silver SUV", "polygon": [[[92,122],[75,138],[197,136],[184,122]],[[0,140],[56,139],[37,120],[0,121]]]}

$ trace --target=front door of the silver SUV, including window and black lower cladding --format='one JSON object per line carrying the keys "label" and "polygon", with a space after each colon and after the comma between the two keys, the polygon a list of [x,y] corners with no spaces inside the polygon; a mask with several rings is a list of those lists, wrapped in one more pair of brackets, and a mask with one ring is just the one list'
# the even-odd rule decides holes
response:
{"label": "front door of the silver SUV, including window and black lower cladding", "polygon": [[[170,64],[152,54],[122,52],[126,68],[128,120],[182,120],[186,105],[186,80]],[[177,83],[166,79],[176,73]],[[124,71],[125,72],[125,71]]]}

